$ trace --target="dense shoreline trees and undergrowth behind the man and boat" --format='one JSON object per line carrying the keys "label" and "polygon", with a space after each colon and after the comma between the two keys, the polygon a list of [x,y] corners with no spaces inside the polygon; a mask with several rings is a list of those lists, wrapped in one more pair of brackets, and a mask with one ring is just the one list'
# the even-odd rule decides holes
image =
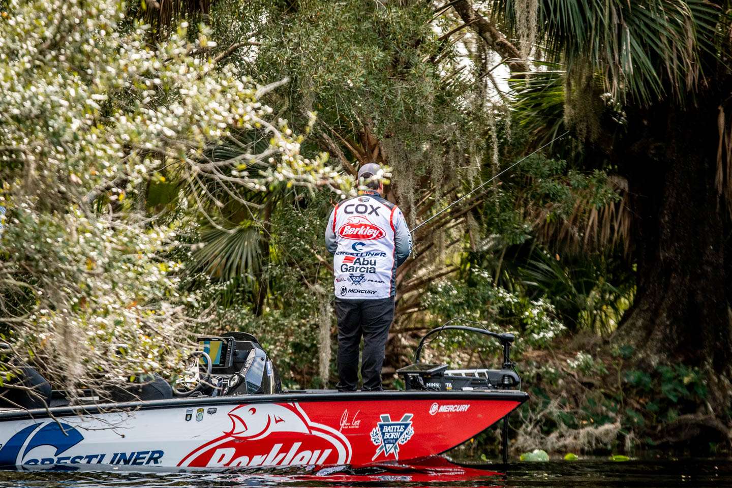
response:
{"label": "dense shoreline trees and undergrowth behind the man and boat", "polygon": [[552,141],[414,233],[386,384],[463,317],[517,335],[515,454],[729,456],[731,56],[730,0],[0,0],[0,388],[106,399],[231,330],[332,387],[357,169],[415,228]]}

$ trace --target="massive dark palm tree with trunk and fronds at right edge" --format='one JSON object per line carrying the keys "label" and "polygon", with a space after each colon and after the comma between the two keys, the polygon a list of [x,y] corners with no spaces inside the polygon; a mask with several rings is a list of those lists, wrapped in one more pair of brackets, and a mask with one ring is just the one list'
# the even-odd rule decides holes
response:
{"label": "massive dark palm tree with trunk and fronds at right edge", "polygon": [[[493,18],[518,31],[526,3],[490,2]],[[545,0],[530,17],[537,53],[564,70],[559,102],[586,145],[584,164],[600,160],[628,181],[638,293],[617,339],[651,361],[705,365],[726,378],[730,8],[721,0]],[[534,115],[556,104],[537,107]],[[543,135],[559,123],[533,127]]]}

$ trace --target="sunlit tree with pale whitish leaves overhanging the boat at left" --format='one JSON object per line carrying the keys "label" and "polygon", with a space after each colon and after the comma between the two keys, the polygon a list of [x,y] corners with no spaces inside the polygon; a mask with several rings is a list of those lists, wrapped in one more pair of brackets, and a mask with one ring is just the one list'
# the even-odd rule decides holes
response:
{"label": "sunlit tree with pale whitish leaves overhanging the boat at left", "polygon": [[[186,27],[151,45],[118,0],[10,0],[1,12],[0,340],[12,352],[0,382],[28,361],[72,394],[179,371],[202,318],[187,315],[179,263],[161,258],[179,222],[141,203],[163,172],[196,189],[196,209],[215,205],[212,188],[350,191],[260,102],[286,80],[236,76],[231,50],[206,58],[206,29],[191,43]],[[264,148],[242,142],[247,131]],[[212,157],[223,145],[239,151]]]}

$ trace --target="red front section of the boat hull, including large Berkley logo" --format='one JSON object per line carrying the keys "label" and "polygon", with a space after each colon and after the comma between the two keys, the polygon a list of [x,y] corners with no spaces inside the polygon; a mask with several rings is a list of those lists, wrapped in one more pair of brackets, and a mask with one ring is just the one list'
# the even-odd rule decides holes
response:
{"label": "red front section of the boat hull, including large Berkley logo", "polygon": [[364,466],[432,456],[458,446],[520,405],[520,399],[405,399],[237,405],[231,429],[179,466]]}

